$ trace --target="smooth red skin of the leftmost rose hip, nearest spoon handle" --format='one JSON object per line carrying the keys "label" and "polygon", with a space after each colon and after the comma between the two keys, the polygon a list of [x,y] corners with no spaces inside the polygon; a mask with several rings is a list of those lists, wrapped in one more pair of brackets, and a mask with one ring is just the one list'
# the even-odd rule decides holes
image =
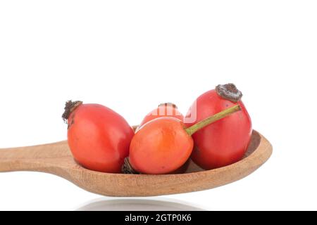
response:
{"label": "smooth red skin of the leftmost rose hip, nearest spoon handle", "polygon": [[123,117],[98,104],[78,106],[68,117],[68,145],[87,169],[120,173],[134,131]]}

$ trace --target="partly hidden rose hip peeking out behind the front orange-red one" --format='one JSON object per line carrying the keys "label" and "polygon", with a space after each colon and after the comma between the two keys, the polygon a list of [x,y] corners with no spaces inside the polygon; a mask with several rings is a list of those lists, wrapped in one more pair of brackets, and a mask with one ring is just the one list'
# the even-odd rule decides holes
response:
{"label": "partly hidden rose hip peeking out behind the front orange-red one", "polygon": [[146,124],[147,122],[160,117],[175,117],[178,120],[184,120],[184,116],[182,113],[180,113],[175,105],[166,103],[159,105],[158,108],[148,113],[139,124],[139,127],[142,127],[142,125]]}

